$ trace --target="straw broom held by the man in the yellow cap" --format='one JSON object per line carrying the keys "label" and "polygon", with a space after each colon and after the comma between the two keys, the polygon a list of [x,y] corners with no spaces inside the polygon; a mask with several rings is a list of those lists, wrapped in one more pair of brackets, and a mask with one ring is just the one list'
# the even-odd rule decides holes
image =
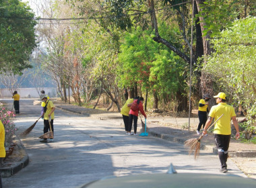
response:
{"label": "straw broom held by the man in the yellow cap", "polygon": [[[220,118],[222,118],[223,115],[224,114],[220,115]],[[216,124],[216,122],[218,122],[220,118],[218,118],[209,128],[207,128],[207,130],[210,130],[210,128],[212,128],[212,126],[214,126],[214,124]],[[201,138],[203,138],[203,134],[199,138],[191,138],[184,142],[184,146],[189,148],[189,154],[195,152],[195,159],[197,159],[197,157],[199,156]]]}

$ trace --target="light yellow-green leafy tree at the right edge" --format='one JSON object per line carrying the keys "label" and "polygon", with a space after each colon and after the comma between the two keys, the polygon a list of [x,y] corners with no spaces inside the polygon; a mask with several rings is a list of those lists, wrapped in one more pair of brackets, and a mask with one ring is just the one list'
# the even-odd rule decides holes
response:
{"label": "light yellow-green leafy tree at the right edge", "polygon": [[[239,19],[214,40],[214,53],[203,67],[215,79],[219,89],[247,109],[249,126],[256,115],[256,17]],[[254,117],[254,118],[253,118]]]}

